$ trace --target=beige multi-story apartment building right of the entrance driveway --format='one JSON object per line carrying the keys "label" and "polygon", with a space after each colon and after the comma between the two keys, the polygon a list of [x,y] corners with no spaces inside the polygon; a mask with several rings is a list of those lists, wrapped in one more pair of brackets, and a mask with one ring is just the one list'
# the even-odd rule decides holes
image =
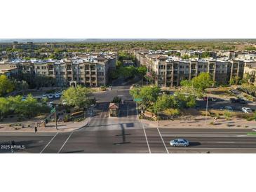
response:
{"label": "beige multi-story apartment building right of the entrance driveway", "polygon": [[201,72],[208,72],[216,84],[228,84],[231,78],[243,78],[245,62],[229,59],[183,60],[181,57],[170,57],[155,53],[137,53],[135,55],[141,65],[154,72],[155,83],[160,86],[179,86],[182,80],[191,80]]}

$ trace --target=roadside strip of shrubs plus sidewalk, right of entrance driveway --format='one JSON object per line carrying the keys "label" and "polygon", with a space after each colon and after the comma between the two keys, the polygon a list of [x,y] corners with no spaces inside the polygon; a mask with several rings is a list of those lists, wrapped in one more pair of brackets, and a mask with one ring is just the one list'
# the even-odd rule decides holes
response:
{"label": "roadside strip of shrubs plus sidewalk, right of entrance driveway", "polygon": [[[168,116],[159,120],[155,114],[146,113],[148,118],[141,122],[150,127],[161,128],[255,128],[255,114],[229,112],[222,110],[197,111],[196,109],[181,109],[179,116]],[[151,115],[151,118],[150,116]]]}

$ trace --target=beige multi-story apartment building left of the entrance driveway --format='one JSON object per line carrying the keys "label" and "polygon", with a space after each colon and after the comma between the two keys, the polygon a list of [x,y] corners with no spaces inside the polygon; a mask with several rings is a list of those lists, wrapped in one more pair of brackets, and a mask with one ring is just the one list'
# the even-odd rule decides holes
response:
{"label": "beige multi-story apartment building left of the entrance driveway", "polygon": [[35,74],[55,78],[58,86],[81,84],[97,87],[107,85],[113,60],[113,58],[97,56],[54,62],[35,62]]}

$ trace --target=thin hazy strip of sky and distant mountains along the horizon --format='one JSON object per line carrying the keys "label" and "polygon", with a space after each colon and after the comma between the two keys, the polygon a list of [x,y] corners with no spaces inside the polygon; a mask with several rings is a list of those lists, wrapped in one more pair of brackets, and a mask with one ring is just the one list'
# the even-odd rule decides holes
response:
{"label": "thin hazy strip of sky and distant mountains along the horizon", "polygon": [[86,42],[112,42],[112,41],[256,41],[256,39],[0,39],[0,43],[86,43]]}

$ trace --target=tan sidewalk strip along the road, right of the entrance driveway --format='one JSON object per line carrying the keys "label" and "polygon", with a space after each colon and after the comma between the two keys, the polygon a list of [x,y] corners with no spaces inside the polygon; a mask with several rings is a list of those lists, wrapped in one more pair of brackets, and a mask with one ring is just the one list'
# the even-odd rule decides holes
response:
{"label": "tan sidewalk strip along the road, right of the entrance driveway", "polygon": [[206,118],[205,116],[198,116],[196,118],[191,118],[189,120],[165,120],[165,121],[148,121],[140,120],[144,125],[150,126],[152,128],[221,128],[221,129],[252,129],[256,128],[255,121],[247,121],[241,118],[231,118],[227,121],[225,118],[219,118],[215,121],[211,117]]}

